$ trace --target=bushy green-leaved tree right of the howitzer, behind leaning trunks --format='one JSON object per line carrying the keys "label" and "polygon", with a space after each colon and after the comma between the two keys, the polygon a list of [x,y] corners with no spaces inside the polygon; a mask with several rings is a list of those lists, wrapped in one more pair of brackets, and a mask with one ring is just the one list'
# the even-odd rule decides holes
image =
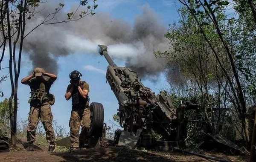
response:
{"label": "bushy green-leaved tree right of the howitzer, behind leaning trunks", "polygon": [[[227,113],[227,79],[217,60],[211,51],[204,35],[200,33],[198,23],[186,7],[178,9],[180,15],[177,23],[169,25],[170,28],[165,37],[170,40],[169,52],[158,52],[160,57],[167,58],[167,81],[171,87],[172,99],[189,98],[201,105],[201,109],[196,110],[195,114],[187,114],[191,120],[204,120],[205,130],[198,129],[203,124],[189,123],[189,131],[197,139],[197,133],[218,134],[222,131],[222,125]],[[219,17],[224,15],[218,13]],[[200,23],[204,17],[198,18]],[[219,46],[221,42],[218,35],[214,32],[215,27],[212,23],[204,25],[204,30],[214,46]],[[230,73],[231,67],[227,57],[223,55],[223,49],[218,49],[221,63],[224,64]],[[209,129],[207,129],[209,128]],[[197,133],[195,133],[197,132]]]}

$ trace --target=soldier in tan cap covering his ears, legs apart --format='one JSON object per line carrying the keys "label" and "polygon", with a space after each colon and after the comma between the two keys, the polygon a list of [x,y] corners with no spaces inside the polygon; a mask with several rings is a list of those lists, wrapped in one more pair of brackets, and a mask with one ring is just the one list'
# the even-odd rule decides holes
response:
{"label": "soldier in tan cap covering his ears, legs apart", "polygon": [[33,142],[35,142],[35,131],[38,126],[39,118],[44,125],[46,139],[49,142],[48,151],[55,151],[55,134],[52,128],[52,112],[51,105],[54,104],[54,95],[49,93],[49,90],[57,76],[47,73],[42,68],[35,68],[32,74],[21,79],[22,84],[27,84],[31,90],[29,98],[29,125],[27,127],[27,141],[29,142],[29,150],[33,150]]}

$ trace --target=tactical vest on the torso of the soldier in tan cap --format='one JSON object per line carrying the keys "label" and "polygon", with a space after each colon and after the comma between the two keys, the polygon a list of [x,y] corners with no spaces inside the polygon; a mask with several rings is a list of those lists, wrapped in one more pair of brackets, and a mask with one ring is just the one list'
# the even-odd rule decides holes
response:
{"label": "tactical vest on the torso of the soldier in tan cap", "polygon": [[29,103],[31,105],[45,105],[49,104],[49,90],[52,83],[49,82],[49,77],[32,78],[29,84],[31,90],[31,97]]}

